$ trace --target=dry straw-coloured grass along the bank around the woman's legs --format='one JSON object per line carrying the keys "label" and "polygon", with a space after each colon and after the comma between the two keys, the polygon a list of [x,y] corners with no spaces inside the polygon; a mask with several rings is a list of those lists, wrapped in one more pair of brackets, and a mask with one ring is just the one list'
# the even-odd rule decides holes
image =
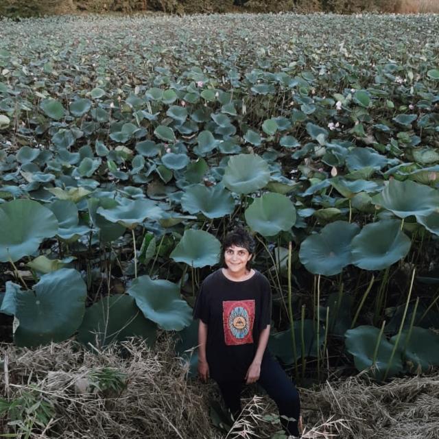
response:
{"label": "dry straw-coloured grass along the bank around the woman's legs", "polygon": [[[154,351],[140,342],[97,354],[73,342],[37,350],[3,344],[0,351],[0,361],[8,359],[7,372],[0,372],[0,410],[2,397],[12,401],[26,392],[54,407],[49,427],[34,427],[31,438],[225,438],[209,418],[209,399],[219,398],[216,386],[187,380],[167,337]],[[103,370],[117,371],[126,385],[117,392],[93,385],[91,371]],[[252,397],[252,390],[227,439],[269,438],[279,429],[277,416],[265,416],[276,414],[274,403]],[[439,370],[385,385],[351,377],[300,389],[300,395],[305,439],[437,438]],[[12,433],[6,422],[0,416],[0,431]]]}

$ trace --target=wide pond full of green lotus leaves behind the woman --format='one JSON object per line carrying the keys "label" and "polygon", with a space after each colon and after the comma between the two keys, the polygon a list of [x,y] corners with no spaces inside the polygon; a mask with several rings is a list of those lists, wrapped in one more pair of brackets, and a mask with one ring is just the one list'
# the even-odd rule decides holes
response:
{"label": "wide pond full of green lotus leaves behind the woman", "polygon": [[188,356],[198,286],[241,224],[298,379],[439,365],[439,16],[0,28],[0,316],[17,345],[174,331]]}

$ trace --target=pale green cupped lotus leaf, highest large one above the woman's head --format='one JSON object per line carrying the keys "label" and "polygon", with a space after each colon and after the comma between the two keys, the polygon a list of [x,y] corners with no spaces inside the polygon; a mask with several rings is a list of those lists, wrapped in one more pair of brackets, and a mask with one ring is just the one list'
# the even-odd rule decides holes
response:
{"label": "pale green cupped lotus leaf, highest large one above the woman's head", "polygon": [[239,154],[228,160],[222,182],[235,193],[251,193],[270,181],[268,163],[255,154]]}

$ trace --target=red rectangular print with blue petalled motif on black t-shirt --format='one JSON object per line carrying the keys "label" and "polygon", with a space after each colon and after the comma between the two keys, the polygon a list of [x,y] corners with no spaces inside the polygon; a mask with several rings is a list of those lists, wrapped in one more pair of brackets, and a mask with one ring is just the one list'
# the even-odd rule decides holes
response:
{"label": "red rectangular print with blue petalled motif on black t-shirt", "polygon": [[228,346],[253,342],[254,300],[222,302],[224,341]]}

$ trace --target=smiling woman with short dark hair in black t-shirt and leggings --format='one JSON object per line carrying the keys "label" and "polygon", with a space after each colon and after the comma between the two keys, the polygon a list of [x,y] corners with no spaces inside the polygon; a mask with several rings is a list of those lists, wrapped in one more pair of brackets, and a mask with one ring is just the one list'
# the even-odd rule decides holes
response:
{"label": "smiling woman with short dark hair in black t-shirt and leggings", "polygon": [[[242,228],[223,243],[224,268],[204,279],[193,311],[199,318],[198,373],[212,377],[235,418],[244,383],[259,383],[276,402],[283,428],[299,436],[300,400],[293,383],[266,349],[271,292],[267,278],[250,268],[254,240]],[[286,419],[285,417],[289,418]]]}

